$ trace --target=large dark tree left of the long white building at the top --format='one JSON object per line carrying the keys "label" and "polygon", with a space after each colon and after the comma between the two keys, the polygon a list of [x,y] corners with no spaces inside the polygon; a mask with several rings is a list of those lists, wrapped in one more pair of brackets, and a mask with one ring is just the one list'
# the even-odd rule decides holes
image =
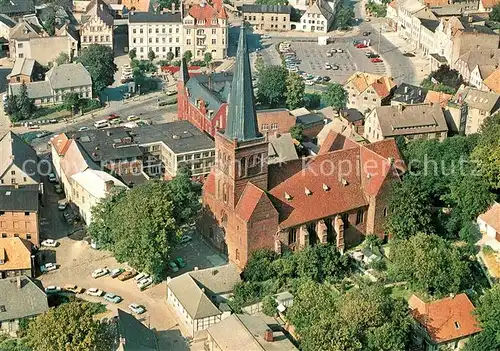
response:
{"label": "large dark tree left of the long white building at the top", "polygon": [[109,46],[91,44],[82,50],[77,61],[89,71],[95,94],[113,84],[118,68],[114,62],[113,49]]}

